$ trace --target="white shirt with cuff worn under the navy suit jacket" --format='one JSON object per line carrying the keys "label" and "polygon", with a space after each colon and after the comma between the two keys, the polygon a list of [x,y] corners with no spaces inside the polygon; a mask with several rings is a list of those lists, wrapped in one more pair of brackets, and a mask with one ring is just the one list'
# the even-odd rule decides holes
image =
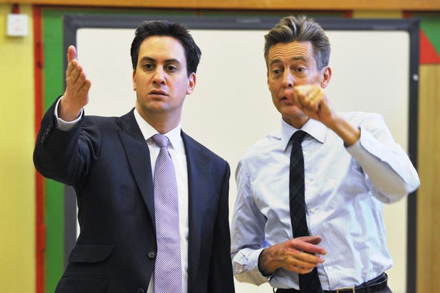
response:
{"label": "white shirt with cuff worn under the navy suit jacket", "polygon": [[[60,99],[61,100],[61,99]],[[58,104],[55,106],[55,116],[58,122],[58,129],[63,131],[69,131],[72,129],[76,123],[80,121],[81,116],[83,115],[83,109],[81,109],[80,116],[72,121],[66,122],[61,118],[58,118]],[[135,109],[134,111],[135,120],[137,125],[146,140],[146,144],[148,145],[148,150],[150,151],[151,158],[151,171],[154,176],[155,162],[157,155],[159,155],[159,146],[153,142],[151,138],[153,135],[158,133],[150,124],[148,124],[140,113]],[[181,275],[182,275],[182,287],[183,293],[187,293],[188,291],[188,168],[186,166],[186,153],[184,149],[184,141],[181,139],[180,135],[181,126],[180,124],[175,128],[169,131],[168,133],[164,133],[168,140],[170,140],[170,144],[168,144],[168,152],[171,155],[171,159],[173,160],[175,172],[176,172],[176,180],[177,180],[177,193],[179,195],[179,232],[180,232],[180,253],[181,253]],[[153,178],[154,179],[154,178]],[[150,284],[148,285],[147,293],[154,292],[154,274],[151,276]]]}

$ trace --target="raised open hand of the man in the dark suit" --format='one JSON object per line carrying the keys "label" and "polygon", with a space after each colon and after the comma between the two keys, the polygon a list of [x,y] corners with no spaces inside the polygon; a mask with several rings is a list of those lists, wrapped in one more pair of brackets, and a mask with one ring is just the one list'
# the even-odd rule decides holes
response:
{"label": "raised open hand of the man in the dark suit", "polygon": [[83,67],[76,60],[76,49],[70,45],[67,49],[66,89],[58,105],[58,117],[73,121],[80,115],[81,109],[89,102],[90,80]]}

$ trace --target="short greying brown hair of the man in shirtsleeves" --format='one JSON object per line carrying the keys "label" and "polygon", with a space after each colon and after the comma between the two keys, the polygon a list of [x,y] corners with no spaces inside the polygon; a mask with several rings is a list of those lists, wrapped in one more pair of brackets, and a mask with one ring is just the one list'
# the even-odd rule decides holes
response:
{"label": "short greying brown hair of the man in shirtsleeves", "polygon": [[267,65],[270,47],[276,43],[291,43],[309,41],[314,50],[314,57],[318,69],[329,65],[330,42],[329,38],[314,19],[304,15],[298,18],[289,16],[281,19],[265,36],[264,58]]}

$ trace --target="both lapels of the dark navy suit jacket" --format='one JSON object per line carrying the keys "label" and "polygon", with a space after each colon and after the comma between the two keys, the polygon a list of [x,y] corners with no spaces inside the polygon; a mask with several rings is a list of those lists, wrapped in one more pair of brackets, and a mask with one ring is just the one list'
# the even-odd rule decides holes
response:
{"label": "both lapels of the dark navy suit jacket", "polygon": [[[135,121],[133,110],[118,118],[121,129],[118,131],[122,145],[129,161],[131,171],[139,186],[142,197],[148,208],[153,226],[154,191],[151,159],[148,146],[142,132]],[[208,206],[209,194],[209,164],[210,158],[195,140],[181,132],[184,141],[186,162],[188,168],[188,285],[197,284],[197,270],[201,252],[201,231],[203,230],[203,212]]]}

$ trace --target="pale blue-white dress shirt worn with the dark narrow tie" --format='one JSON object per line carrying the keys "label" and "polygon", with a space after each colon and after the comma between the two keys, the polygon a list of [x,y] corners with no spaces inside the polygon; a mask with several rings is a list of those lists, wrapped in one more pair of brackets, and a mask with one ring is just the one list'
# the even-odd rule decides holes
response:
{"label": "pale blue-white dress shirt worn with the dark narrow tie", "polygon": [[[310,235],[320,235],[327,250],[318,265],[323,290],[358,285],[391,268],[386,248],[383,203],[395,202],[419,186],[408,156],[396,144],[382,116],[344,113],[361,135],[344,147],[324,124],[310,119],[302,128],[305,203]],[[237,197],[232,217],[232,264],[239,281],[270,282],[298,289],[298,274],[279,269],[259,272],[263,248],[293,238],[289,213],[289,139],[296,131],[282,121],[281,131],[256,142],[236,169]]]}

